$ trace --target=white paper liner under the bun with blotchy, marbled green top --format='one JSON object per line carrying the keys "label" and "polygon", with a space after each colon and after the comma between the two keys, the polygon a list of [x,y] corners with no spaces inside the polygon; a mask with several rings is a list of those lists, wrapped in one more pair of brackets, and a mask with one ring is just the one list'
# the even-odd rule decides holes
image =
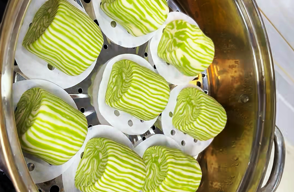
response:
{"label": "white paper liner under the bun with blotchy, marbled green top", "polygon": [[184,13],[181,12],[170,12],[168,13],[166,21],[163,23],[163,25],[156,31],[153,38],[148,42],[149,48],[148,48],[148,61],[151,63],[152,66],[156,66],[156,69],[158,73],[166,79],[171,84],[174,85],[180,85],[188,83],[189,81],[192,81],[195,77],[188,77],[184,74],[182,74],[176,67],[174,67],[172,64],[168,65],[166,62],[158,57],[157,50],[158,45],[161,40],[163,29],[166,27],[168,23],[171,23],[175,20],[184,20],[192,25],[198,26],[196,21],[194,21],[191,17],[187,16]]}

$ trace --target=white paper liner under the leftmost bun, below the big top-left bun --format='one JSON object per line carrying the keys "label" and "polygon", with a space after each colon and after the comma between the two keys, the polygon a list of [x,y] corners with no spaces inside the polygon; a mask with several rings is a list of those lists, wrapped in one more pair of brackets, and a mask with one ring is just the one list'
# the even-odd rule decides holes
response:
{"label": "white paper liner under the leftmost bun, below the big top-left bun", "polygon": [[[25,81],[19,81],[13,84],[12,86],[12,97],[13,97],[13,107],[16,109],[16,105],[19,102],[22,94],[34,87],[39,87],[50,93],[54,94],[55,96],[61,98],[63,101],[71,105],[72,107],[77,108],[76,103],[74,100],[69,96],[69,94],[64,91],[61,87],[57,86],[54,83],[49,81],[39,80],[39,79],[30,79]],[[51,179],[56,178],[57,176],[61,175],[69,166],[73,163],[73,160],[76,158],[77,155],[74,155],[68,162],[55,166],[50,165],[49,163],[34,157],[31,154],[24,153],[24,159],[26,163],[33,163],[35,168],[33,171],[30,171],[30,175],[35,183],[42,183],[45,181],[49,181]]]}

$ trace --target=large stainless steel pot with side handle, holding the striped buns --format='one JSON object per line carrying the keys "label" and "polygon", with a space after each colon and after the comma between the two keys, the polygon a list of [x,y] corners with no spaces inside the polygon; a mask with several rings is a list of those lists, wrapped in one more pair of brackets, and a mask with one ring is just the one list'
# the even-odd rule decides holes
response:
{"label": "large stainless steel pot with side handle, holding the striped buns", "polygon": [[[95,19],[91,3],[77,2]],[[30,0],[9,0],[0,31],[0,167],[9,174],[18,192],[48,190],[48,185],[36,185],[29,175],[11,105],[12,83],[21,77],[21,72],[13,64],[14,52],[29,3]],[[209,95],[225,107],[228,115],[226,128],[198,157],[203,171],[198,192],[275,191],[283,173],[285,146],[283,136],[275,128],[273,62],[265,27],[255,1],[168,0],[168,4],[173,11],[183,11],[192,16],[215,43],[213,64],[206,73],[199,76],[198,81]],[[118,53],[135,51],[117,47],[110,42],[108,44],[109,48],[104,50],[104,56],[97,63],[96,70],[101,63]],[[143,56],[142,49],[139,49],[141,51],[138,55]],[[78,87],[83,86],[86,90],[89,84],[90,77],[66,91],[79,98]],[[78,107],[88,105],[86,111],[93,110],[86,104],[90,100],[76,101],[79,101]],[[98,124],[95,112],[91,113],[94,115],[88,115],[88,121]],[[154,129],[146,135],[156,133]],[[138,142],[143,136],[130,136],[130,139]],[[273,143],[274,166],[268,183],[262,188]],[[53,183],[62,185],[58,178]],[[62,191],[62,186],[60,188]]]}

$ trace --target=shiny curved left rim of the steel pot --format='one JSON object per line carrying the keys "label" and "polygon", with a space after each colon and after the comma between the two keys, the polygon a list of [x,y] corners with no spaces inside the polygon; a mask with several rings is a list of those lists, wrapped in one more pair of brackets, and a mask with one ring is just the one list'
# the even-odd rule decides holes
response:
{"label": "shiny curved left rim of the steel pot", "polygon": [[7,173],[18,192],[38,191],[21,152],[11,105],[14,51],[29,2],[30,0],[10,0],[0,30],[0,161],[6,166]]}

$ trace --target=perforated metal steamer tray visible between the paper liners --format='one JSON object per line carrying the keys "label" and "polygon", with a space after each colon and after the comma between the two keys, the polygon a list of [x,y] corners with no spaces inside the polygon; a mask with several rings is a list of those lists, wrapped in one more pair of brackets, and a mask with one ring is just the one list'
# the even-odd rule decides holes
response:
{"label": "perforated metal steamer tray visible between the paper liners", "polygon": [[[89,0],[85,0],[86,2],[89,2]],[[86,10],[88,15],[95,21],[95,23],[98,23],[95,17],[95,13],[93,10],[92,2],[86,3],[83,0],[76,0],[76,2]],[[170,7],[170,11],[179,11],[183,12],[181,7],[179,7],[174,1],[167,0],[168,6]],[[105,68],[105,63],[110,60],[111,58],[121,55],[121,54],[136,54],[139,55],[146,60],[148,59],[148,42],[139,46],[139,47],[133,47],[133,48],[124,48],[119,45],[116,45],[112,43],[106,36],[103,34],[104,38],[104,45],[102,48],[102,51],[98,57],[97,63],[91,72],[91,74],[86,77],[81,83],[77,84],[76,86],[73,86],[71,88],[65,89],[66,92],[69,93],[71,98],[74,99],[78,109],[84,113],[88,120],[88,127],[92,127],[94,125],[100,125],[100,124],[107,124],[105,119],[102,117],[101,114],[96,113],[96,104],[97,104],[97,98],[98,98],[98,87],[99,87],[99,77],[102,76],[103,70]],[[19,67],[17,64],[14,64],[14,82],[23,81],[28,79],[22,72],[19,70]],[[49,66],[50,67],[50,66]],[[154,69],[156,69],[156,66],[153,66]],[[48,72],[52,70],[52,68],[48,69]],[[53,69],[55,70],[55,69]],[[208,81],[206,76],[206,71],[202,74],[199,74],[198,77],[196,77],[193,81],[193,83],[203,89],[207,94],[208,93]],[[173,84],[170,84],[170,88],[173,89],[175,86]],[[146,140],[146,138],[151,137],[154,134],[163,134],[162,126],[161,126],[161,116],[158,117],[157,121],[152,125],[147,132],[145,132],[142,135],[126,135],[128,139],[132,142],[132,144],[136,147],[139,143],[141,143],[143,140]],[[174,134],[174,132],[173,132]],[[168,133],[166,135],[177,137],[176,134]],[[183,134],[181,135],[183,136]],[[184,147],[185,139],[179,140],[178,145],[180,147]],[[197,142],[197,140],[195,141]],[[197,158],[197,156],[195,156]],[[31,164],[30,164],[31,166]],[[29,167],[29,170],[34,169],[35,167]],[[43,192],[63,192],[63,181],[62,181],[62,175],[56,177],[55,179],[52,179],[50,181],[46,181],[44,183],[36,183],[37,187],[39,188],[39,191]],[[66,191],[68,192],[68,191]]]}

